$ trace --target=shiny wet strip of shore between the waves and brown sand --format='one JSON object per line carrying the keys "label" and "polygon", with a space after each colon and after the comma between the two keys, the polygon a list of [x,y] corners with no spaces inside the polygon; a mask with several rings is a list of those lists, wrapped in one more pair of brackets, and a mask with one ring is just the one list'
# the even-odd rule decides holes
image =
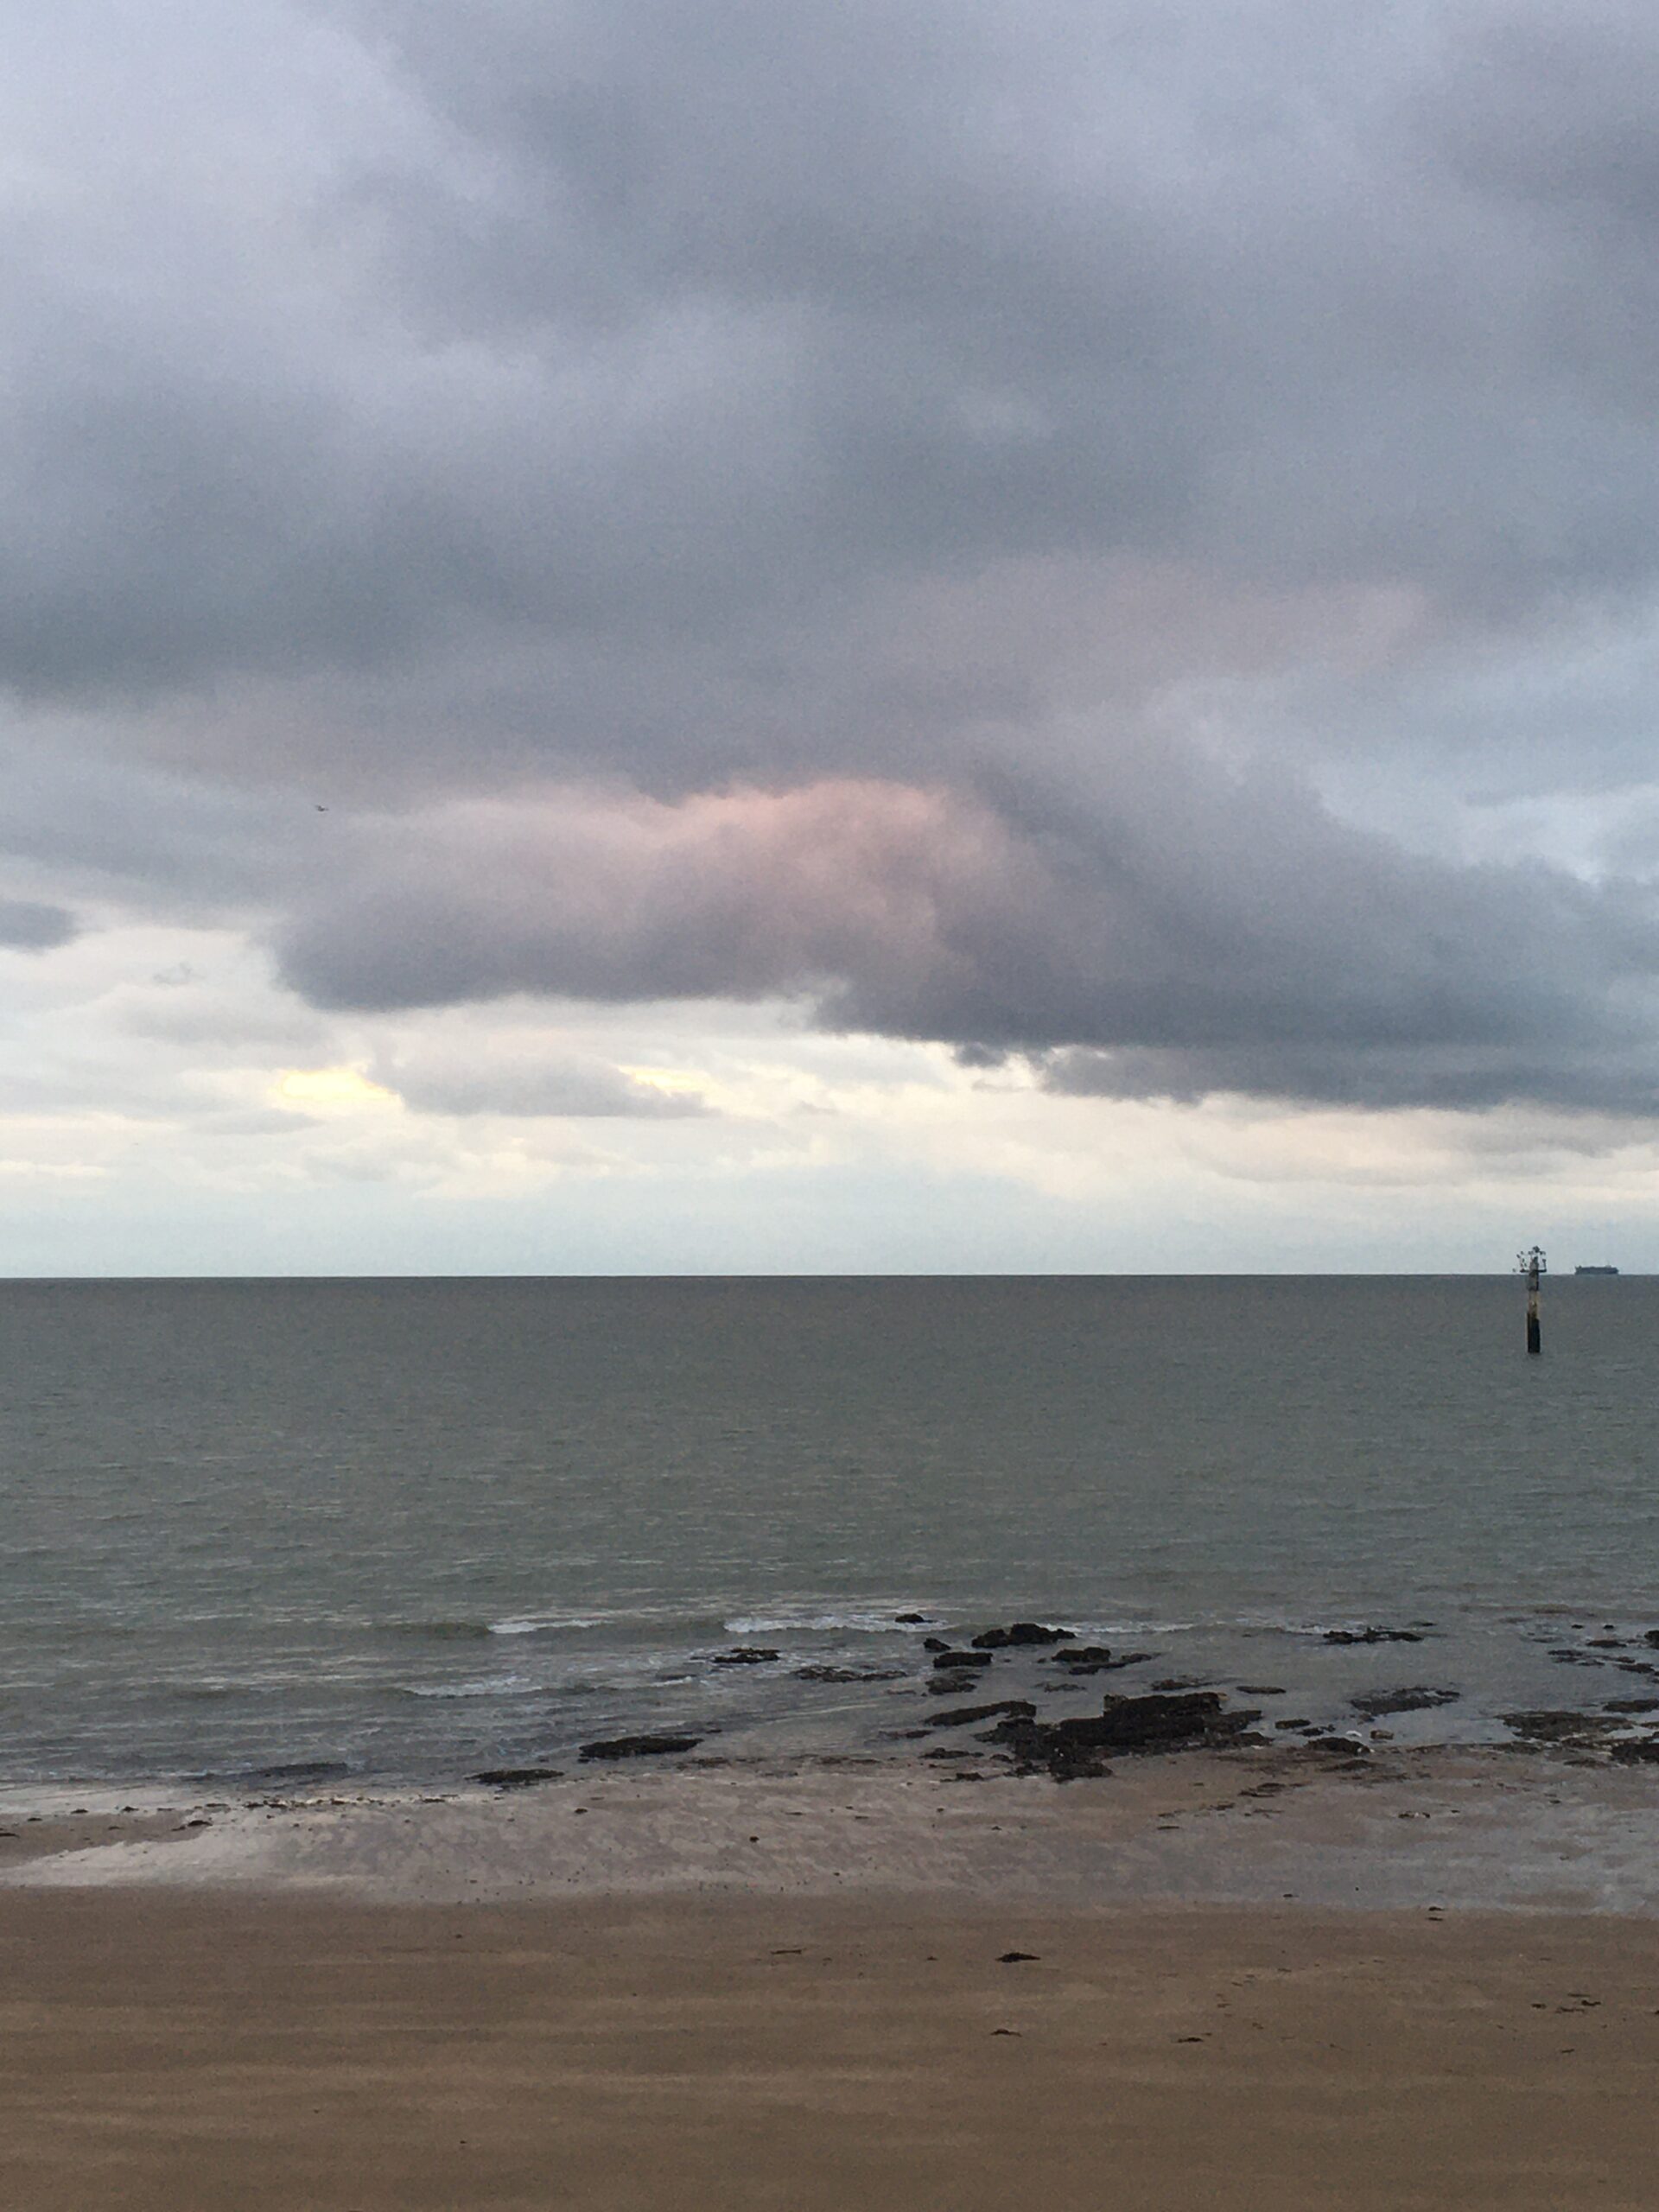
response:
{"label": "shiny wet strip of shore between the waves and brown sand", "polygon": [[684,1759],[526,1787],[0,1794],[0,1898],[42,1889],[509,1905],[1020,1898],[1659,1916],[1659,1770],[1562,1750],[1241,1745],[1051,1781],[942,1761]]}

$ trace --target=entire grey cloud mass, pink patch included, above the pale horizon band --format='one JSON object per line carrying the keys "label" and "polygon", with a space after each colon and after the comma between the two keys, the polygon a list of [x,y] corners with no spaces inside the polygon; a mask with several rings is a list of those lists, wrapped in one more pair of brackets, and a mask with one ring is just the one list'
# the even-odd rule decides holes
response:
{"label": "entire grey cloud mass, pink patch included, above the pale horizon band", "polygon": [[1071,1091],[1650,1110],[1641,856],[1407,849],[1323,772],[1453,812],[1484,657],[1526,779],[1595,781],[1528,717],[1659,586],[1652,11],[0,24],[31,867],[241,889],[321,1006],[792,995]]}

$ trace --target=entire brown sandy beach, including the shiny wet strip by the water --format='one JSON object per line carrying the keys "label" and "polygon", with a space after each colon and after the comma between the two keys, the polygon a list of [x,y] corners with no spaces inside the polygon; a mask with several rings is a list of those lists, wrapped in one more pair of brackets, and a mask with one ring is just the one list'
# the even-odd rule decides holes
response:
{"label": "entire brown sandy beach, including the shiny wet strip by the water", "polygon": [[706,1767],[4,1827],[31,2212],[1652,2203],[1655,1783],[1604,1763]]}

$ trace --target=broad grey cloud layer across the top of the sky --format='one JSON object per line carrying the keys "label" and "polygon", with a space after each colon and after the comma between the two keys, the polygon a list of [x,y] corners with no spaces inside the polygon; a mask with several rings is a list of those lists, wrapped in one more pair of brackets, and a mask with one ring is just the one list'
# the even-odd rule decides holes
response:
{"label": "broad grey cloud layer across the top of the sky", "polygon": [[1037,553],[1475,606],[1652,573],[1635,7],[186,0],[139,38],[80,0],[60,38],[11,95],[58,184],[7,274],[29,695]]}

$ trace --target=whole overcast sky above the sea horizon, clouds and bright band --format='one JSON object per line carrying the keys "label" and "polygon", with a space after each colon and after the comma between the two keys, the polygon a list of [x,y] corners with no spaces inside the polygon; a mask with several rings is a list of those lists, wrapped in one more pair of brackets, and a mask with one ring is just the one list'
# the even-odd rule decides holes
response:
{"label": "whole overcast sky above the sea horizon, clouds and bright band", "polygon": [[0,0],[20,1274],[1659,1265],[1659,13]]}

